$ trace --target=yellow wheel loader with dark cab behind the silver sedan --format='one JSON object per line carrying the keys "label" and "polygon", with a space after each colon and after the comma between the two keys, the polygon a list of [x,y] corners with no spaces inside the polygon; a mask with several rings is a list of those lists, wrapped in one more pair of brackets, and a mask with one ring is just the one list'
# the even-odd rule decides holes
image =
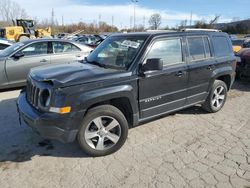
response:
{"label": "yellow wheel loader with dark cab behind the silver sedan", "polygon": [[16,42],[32,38],[50,38],[51,28],[35,29],[34,20],[17,19],[14,26],[0,29],[0,37]]}

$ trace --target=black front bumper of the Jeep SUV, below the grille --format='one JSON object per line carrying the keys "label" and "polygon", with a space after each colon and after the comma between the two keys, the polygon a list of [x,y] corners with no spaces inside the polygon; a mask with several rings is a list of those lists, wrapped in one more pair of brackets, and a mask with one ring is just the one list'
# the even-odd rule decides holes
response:
{"label": "black front bumper of the Jeep SUV, below the grille", "polygon": [[25,92],[18,97],[17,108],[21,119],[42,137],[64,143],[73,142],[76,139],[82,113],[65,115],[41,113],[28,103]]}

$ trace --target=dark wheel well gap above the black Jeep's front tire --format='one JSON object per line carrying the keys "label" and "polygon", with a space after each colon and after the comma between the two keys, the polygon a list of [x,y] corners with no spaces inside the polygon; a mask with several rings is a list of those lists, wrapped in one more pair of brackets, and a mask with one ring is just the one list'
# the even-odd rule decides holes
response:
{"label": "dark wheel well gap above the black Jeep's front tire", "polygon": [[114,98],[114,99],[102,101],[99,103],[95,103],[87,109],[87,112],[94,107],[107,105],[107,104],[118,108],[127,119],[129,127],[133,126],[133,109],[132,109],[129,99],[126,97],[119,97],[119,98]]}

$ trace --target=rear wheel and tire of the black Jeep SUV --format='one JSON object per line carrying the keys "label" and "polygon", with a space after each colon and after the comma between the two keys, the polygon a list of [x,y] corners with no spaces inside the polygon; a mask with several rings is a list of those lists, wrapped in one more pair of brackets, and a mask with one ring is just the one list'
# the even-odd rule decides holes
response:
{"label": "rear wheel and tire of the black Jeep SUV", "polygon": [[221,80],[215,80],[209,95],[202,108],[210,113],[218,112],[224,106],[227,99],[227,85]]}

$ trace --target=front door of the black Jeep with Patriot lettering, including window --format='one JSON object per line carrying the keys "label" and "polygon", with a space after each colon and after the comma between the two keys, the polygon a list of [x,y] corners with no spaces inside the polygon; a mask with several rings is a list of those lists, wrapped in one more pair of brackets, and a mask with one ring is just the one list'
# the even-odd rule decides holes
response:
{"label": "front door of the black Jeep with Patriot lettering, including window", "polygon": [[186,104],[187,65],[182,38],[157,39],[146,55],[163,60],[162,71],[145,73],[139,79],[140,118],[165,114]]}

